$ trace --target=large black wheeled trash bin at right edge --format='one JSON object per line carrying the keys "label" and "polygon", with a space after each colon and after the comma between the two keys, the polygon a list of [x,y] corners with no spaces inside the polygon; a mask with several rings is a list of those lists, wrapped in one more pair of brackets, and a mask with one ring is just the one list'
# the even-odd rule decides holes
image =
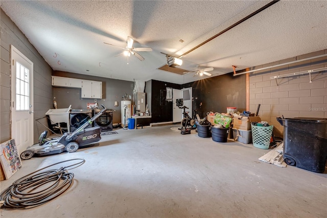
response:
{"label": "large black wheeled trash bin at right edge", "polygon": [[284,125],[284,161],[313,172],[324,172],[327,159],[326,118],[277,118]]}

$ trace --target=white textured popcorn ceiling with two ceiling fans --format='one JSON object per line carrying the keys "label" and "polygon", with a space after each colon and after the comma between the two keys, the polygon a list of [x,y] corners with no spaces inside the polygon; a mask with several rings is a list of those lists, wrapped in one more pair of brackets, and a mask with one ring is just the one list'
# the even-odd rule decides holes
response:
{"label": "white textured popcorn ceiling with two ceiling fans", "polygon": [[[1,1],[1,8],[53,70],[183,84],[205,77],[158,70],[270,1]],[[182,69],[258,66],[327,49],[327,1],[280,1],[183,56]],[[3,24],[2,24],[3,25]],[[116,55],[126,47],[152,52]],[[180,42],[180,39],[183,42]],[[88,71],[87,71],[88,70]]]}

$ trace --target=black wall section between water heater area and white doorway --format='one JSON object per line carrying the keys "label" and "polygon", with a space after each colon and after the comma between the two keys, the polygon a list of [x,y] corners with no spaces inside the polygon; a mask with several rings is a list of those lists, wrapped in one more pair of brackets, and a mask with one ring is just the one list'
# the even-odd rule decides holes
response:
{"label": "black wall section between water heater area and white doorway", "polygon": [[148,97],[151,99],[151,122],[156,123],[172,121],[174,102],[166,100],[166,88],[181,89],[181,85],[158,80],[149,80],[146,83],[146,86],[148,85],[151,85],[152,88],[151,95],[148,95]]}

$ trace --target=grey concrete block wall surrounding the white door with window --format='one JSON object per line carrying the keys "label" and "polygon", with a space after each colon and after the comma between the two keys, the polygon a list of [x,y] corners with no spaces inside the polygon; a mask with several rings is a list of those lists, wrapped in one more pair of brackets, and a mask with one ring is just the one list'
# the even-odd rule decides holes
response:
{"label": "grey concrete block wall surrounding the white door with window", "polygon": [[[0,30],[0,143],[2,143],[11,139],[10,45],[13,45],[33,62],[34,120],[44,117],[46,111],[53,108],[51,86],[53,70],[2,9],[0,10]],[[38,141],[39,137],[38,126],[41,125],[34,121],[34,143]]]}

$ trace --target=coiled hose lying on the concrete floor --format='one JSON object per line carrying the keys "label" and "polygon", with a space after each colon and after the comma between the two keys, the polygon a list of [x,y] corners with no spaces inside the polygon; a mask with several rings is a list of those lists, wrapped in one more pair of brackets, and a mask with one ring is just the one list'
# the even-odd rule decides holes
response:
{"label": "coiled hose lying on the concrete floor", "polygon": [[[80,160],[69,166],[39,172],[45,168],[68,162]],[[39,170],[36,170],[13,182],[11,186],[0,193],[3,207],[22,208],[39,206],[58,197],[71,186],[74,173],[68,172],[85,162],[84,159],[71,159],[61,161]],[[37,173],[39,172],[39,173]]]}

